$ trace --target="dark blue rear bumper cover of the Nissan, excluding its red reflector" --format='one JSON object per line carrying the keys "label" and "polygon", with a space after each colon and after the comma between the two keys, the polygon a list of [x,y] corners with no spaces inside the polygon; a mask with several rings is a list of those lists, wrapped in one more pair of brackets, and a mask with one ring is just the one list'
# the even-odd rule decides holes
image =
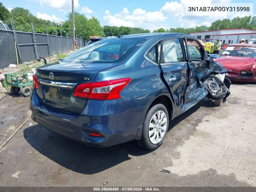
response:
{"label": "dark blue rear bumper cover of the Nissan, excluding its red reflector", "polygon": [[[35,90],[30,104],[32,120],[39,125],[72,140],[98,147],[140,139],[138,130],[143,124],[144,108],[128,109],[122,99],[88,99],[82,113],[72,115],[42,106]],[[103,137],[89,136],[89,132],[101,133]]]}

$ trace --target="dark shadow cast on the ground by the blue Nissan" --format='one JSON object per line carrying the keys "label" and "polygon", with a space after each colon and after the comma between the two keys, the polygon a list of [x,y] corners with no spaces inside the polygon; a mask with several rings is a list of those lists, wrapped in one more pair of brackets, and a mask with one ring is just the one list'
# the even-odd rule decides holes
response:
{"label": "dark shadow cast on the ground by the blue Nissan", "polygon": [[[200,103],[206,105],[208,101]],[[195,105],[169,123],[168,131],[200,108]],[[96,148],[66,139],[51,131],[34,125],[23,131],[27,142],[39,153],[72,171],[94,174],[131,159],[128,155],[141,156],[151,153],[139,147],[137,141],[130,141],[108,148]]]}

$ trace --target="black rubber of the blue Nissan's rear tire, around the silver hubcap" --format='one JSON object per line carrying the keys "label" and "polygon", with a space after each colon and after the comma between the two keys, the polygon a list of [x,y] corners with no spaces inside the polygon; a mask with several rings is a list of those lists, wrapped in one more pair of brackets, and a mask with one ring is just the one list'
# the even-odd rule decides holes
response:
{"label": "black rubber of the blue Nissan's rear tire, around the silver hubcap", "polygon": [[[149,139],[149,134],[148,134],[148,130],[149,130],[149,124],[151,123],[151,118],[152,116],[157,112],[157,111],[163,111],[166,114],[166,118],[167,118],[167,126],[166,126],[166,131],[165,134],[163,136],[163,138],[161,139],[161,141],[159,143],[153,144],[151,143],[150,139]],[[138,140],[138,143],[141,147],[144,147],[146,149],[149,150],[155,150],[156,148],[158,148],[164,141],[165,136],[168,132],[168,126],[169,126],[169,116],[168,116],[168,111],[166,109],[166,107],[163,104],[156,104],[154,106],[151,107],[151,109],[149,109],[148,113],[145,116],[144,119],[144,123],[143,123],[143,130],[142,130],[142,135],[141,135],[141,140]]]}

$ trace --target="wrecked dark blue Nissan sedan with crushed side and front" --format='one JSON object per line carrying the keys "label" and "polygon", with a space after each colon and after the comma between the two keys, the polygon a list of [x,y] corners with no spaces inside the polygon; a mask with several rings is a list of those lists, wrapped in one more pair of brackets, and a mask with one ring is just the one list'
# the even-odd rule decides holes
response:
{"label": "wrecked dark blue Nissan sedan with crushed side and front", "polygon": [[170,120],[205,96],[230,94],[225,74],[190,35],[118,35],[39,67],[33,76],[32,120],[93,146],[138,140],[154,150]]}

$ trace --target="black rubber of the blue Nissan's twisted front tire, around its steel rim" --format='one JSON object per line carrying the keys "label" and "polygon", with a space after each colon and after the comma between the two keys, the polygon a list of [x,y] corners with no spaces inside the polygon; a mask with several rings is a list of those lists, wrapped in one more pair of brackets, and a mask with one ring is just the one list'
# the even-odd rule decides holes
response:
{"label": "black rubber of the blue Nissan's twisted front tire, around its steel rim", "polygon": [[[222,92],[221,93],[218,93],[216,94],[215,96],[211,93],[211,90],[208,88],[208,86],[206,86],[205,82],[207,81],[207,79],[209,78],[213,78],[221,87],[222,87]],[[208,94],[207,94],[207,97],[210,98],[210,99],[222,99],[224,98],[226,95],[227,95],[227,90],[228,88],[226,87],[226,85],[223,83],[223,81],[221,81],[220,78],[214,76],[214,75],[210,75],[209,77],[205,78],[204,79],[204,85],[208,91]]]}

